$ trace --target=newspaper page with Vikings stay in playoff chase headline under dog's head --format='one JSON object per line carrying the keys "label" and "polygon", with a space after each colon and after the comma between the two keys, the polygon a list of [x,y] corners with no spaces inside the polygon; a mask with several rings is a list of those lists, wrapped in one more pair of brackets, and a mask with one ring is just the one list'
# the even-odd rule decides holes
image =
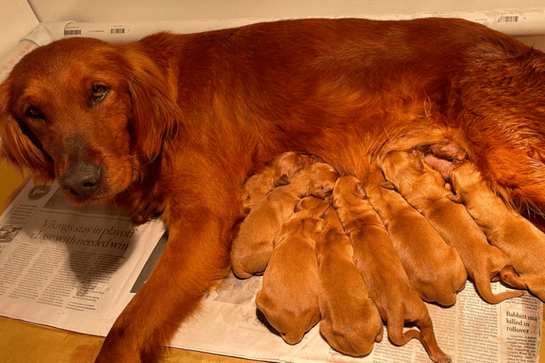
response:
{"label": "newspaper page with Vikings stay in playoff chase headline under dog's head", "polygon": [[29,183],[0,216],[0,314],[106,335],[164,232]]}

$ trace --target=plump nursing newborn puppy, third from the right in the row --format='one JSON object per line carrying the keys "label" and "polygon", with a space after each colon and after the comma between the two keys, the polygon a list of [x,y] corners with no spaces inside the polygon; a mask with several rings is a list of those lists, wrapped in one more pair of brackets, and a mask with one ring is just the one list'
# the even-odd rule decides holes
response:
{"label": "plump nursing newborn puppy, third from the right in the row", "polygon": [[467,279],[460,256],[400,194],[383,188],[384,183],[382,172],[375,169],[368,175],[365,191],[390,234],[410,286],[424,301],[456,303],[456,293]]}

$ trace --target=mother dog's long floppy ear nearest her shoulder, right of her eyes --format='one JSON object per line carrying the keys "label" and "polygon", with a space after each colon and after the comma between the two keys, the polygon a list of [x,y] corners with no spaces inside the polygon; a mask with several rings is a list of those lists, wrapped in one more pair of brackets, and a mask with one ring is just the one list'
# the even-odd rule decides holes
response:
{"label": "mother dog's long floppy ear nearest her shoulder, right of her eyes", "polygon": [[167,69],[133,48],[123,52],[125,77],[133,103],[136,149],[150,160],[163,145],[183,131],[182,112],[177,106],[177,84]]}

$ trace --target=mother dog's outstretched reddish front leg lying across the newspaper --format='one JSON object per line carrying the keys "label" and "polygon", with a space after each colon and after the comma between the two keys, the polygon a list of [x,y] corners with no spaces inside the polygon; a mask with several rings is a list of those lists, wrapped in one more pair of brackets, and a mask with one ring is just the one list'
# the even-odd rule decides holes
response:
{"label": "mother dog's outstretched reddish front leg lying across the newspaper", "polygon": [[158,362],[180,323],[224,277],[231,225],[205,208],[186,212],[170,225],[163,256],[117,318],[96,363]]}

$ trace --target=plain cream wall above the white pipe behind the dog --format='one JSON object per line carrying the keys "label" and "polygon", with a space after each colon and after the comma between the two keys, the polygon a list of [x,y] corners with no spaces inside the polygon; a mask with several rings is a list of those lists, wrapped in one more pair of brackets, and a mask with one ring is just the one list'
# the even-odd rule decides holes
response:
{"label": "plain cream wall above the white pipe behind the dog", "polygon": [[[2,1],[2,0],[0,0]],[[541,0],[28,0],[40,21],[302,18],[545,7]]]}

